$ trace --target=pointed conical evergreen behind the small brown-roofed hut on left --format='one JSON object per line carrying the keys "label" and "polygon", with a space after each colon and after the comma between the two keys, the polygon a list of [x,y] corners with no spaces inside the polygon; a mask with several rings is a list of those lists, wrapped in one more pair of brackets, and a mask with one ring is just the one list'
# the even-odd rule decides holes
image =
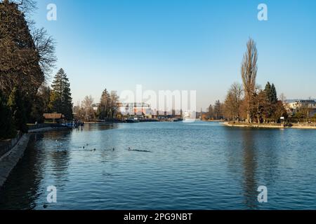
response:
{"label": "pointed conical evergreen behind the small brown-roofed hut on left", "polygon": [[62,113],[67,119],[72,119],[70,82],[63,69],[60,69],[58,73],[56,73],[51,87],[50,110],[56,113]]}

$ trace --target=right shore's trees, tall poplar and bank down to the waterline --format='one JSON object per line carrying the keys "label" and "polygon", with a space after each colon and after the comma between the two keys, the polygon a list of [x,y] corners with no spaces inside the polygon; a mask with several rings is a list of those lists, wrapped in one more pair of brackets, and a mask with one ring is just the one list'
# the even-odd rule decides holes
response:
{"label": "right shore's trees, tall poplar and bank down to the waterline", "polygon": [[202,113],[202,120],[225,120],[225,125],[231,127],[315,129],[316,111],[312,104],[304,103],[294,110],[283,93],[277,97],[274,83],[268,82],[264,88],[256,83],[257,61],[256,42],[249,38],[240,70],[242,84],[233,83],[225,101],[210,105],[209,111]]}

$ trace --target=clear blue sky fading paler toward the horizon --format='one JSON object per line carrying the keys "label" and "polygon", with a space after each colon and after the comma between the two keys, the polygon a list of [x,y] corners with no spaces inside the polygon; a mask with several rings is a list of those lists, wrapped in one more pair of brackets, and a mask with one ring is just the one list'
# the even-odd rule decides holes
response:
{"label": "clear blue sky fading paler toward the horizon", "polygon": [[[57,21],[46,20],[48,3]],[[268,21],[258,20],[259,3]],[[197,90],[197,108],[206,109],[241,83],[249,36],[257,83],[275,83],[287,99],[316,98],[315,0],[41,0],[34,19],[58,42],[57,67],[70,78],[74,104],[89,94],[98,102],[105,87],[141,84]]]}

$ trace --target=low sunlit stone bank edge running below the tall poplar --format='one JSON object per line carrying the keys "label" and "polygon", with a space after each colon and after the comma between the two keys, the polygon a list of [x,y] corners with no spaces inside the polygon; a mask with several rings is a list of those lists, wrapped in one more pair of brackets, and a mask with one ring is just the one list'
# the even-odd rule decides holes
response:
{"label": "low sunlit stone bank edge running below the tall poplar", "polygon": [[274,129],[284,129],[284,128],[294,128],[294,129],[315,129],[316,125],[299,125],[293,124],[292,126],[284,126],[282,124],[248,124],[248,123],[222,123],[228,127],[251,127],[251,128],[274,128]]}

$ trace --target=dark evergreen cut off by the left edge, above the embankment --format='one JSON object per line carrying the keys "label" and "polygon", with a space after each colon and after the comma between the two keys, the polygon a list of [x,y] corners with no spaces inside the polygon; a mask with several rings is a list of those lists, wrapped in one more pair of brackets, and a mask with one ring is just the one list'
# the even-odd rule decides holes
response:
{"label": "dark evergreen cut off by the left edge, above the embankment", "polygon": [[7,100],[0,90],[0,139],[10,139],[15,136],[12,114],[7,105]]}

